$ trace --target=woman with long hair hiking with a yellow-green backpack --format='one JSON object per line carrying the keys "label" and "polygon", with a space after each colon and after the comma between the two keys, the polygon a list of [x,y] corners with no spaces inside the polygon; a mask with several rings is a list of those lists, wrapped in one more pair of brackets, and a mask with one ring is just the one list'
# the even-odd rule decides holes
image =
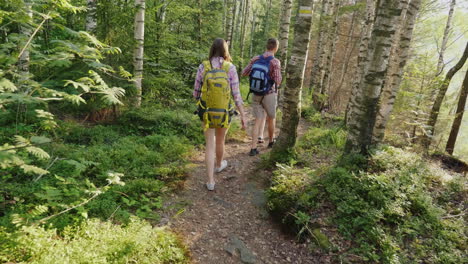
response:
{"label": "woman with long hair hiking with a yellow-green backpack", "polygon": [[214,172],[219,173],[228,165],[223,157],[226,132],[235,113],[232,101],[240,113],[242,129],[246,126],[239,77],[231,61],[226,41],[215,39],[208,60],[198,67],[193,91],[205,131],[206,187],[210,191],[215,187]]}

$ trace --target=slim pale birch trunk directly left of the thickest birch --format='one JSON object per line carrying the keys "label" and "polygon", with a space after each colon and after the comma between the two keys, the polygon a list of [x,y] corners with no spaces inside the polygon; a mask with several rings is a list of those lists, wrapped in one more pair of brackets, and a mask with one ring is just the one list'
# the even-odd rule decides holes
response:
{"label": "slim pale birch trunk directly left of the thickest birch", "polygon": [[351,108],[351,102],[355,100],[357,90],[359,89],[359,84],[361,83],[361,78],[365,73],[365,63],[367,62],[367,56],[369,52],[369,40],[372,33],[372,28],[374,26],[375,18],[375,3],[373,0],[366,0],[366,17],[362,21],[361,25],[361,36],[359,40],[359,53],[356,68],[354,70],[354,78],[351,86],[351,95],[346,106],[345,113],[345,123],[349,122],[349,111]]}

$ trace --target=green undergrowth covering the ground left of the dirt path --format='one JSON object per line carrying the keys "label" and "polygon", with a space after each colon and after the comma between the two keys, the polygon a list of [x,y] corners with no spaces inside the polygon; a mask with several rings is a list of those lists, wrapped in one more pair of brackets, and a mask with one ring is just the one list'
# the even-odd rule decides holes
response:
{"label": "green undergrowth covering the ground left of the dirt path", "polygon": [[[53,133],[22,122],[1,128],[5,140],[30,133],[52,142],[41,146],[46,159],[23,155],[48,173],[11,167],[0,174],[0,260],[185,263],[186,251],[173,234],[132,219],[157,223],[164,197],[185,179],[188,157],[203,142],[196,117],[145,107],[108,124],[58,123]],[[118,184],[110,184],[109,175]],[[90,245],[93,251],[81,249]]]}

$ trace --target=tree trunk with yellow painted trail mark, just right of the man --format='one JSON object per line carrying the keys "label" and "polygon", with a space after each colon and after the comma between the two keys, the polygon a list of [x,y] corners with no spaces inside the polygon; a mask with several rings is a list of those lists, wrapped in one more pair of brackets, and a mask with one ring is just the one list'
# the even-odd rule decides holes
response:
{"label": "tree trunk with yellow painted trail mark, just right of the man", "polygon": [[273,159],[284,158],[296,144],[297,126],[301,116],[301,92],[312,26],[313,0],[299,0],[299,12],[294,25],[294,41],[287,67],[281,132],[272,150]]}

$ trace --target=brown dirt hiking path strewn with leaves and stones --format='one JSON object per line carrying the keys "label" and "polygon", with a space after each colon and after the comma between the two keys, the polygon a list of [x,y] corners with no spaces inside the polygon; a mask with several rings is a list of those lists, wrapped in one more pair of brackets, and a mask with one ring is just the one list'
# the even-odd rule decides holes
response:
{"label": "brown dirt hiking path strewn with leaves and stones", "polygon": [[[248,155],[249,140],[247,136],[227,139],[229,166],[215,175],[213,192],[205,187],[204,153],[198,152],[185,187],[166,204],[163,222],[181,235],[194,263],[326,262],[312,256],[307,241],[298,242],[269,215],[264,190],[271,172],[257,169],[261,157]],[[259,150],[267,152],[267,143]]]}

